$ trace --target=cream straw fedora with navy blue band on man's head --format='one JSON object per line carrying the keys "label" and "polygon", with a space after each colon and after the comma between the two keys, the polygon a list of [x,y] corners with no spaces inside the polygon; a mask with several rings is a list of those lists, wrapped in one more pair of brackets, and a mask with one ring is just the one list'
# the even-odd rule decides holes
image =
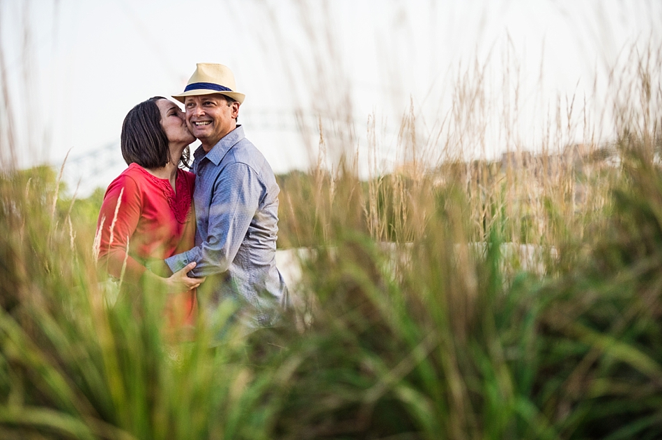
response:
{"label": "cream straw fedora with navy blue band on man's head", "polygon": [[179,102],[184,102],[187,96],[211,95],[220,93],[236,100],[241,104],[246,95],[236,91],[232,70],[222,64],[197,63],[195,72],[186,84],[183,93],[172,95]]}

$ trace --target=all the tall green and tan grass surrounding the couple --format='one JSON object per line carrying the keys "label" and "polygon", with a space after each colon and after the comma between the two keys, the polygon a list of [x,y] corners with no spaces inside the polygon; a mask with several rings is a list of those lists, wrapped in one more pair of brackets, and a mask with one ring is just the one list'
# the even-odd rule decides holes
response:
{"label": "all the tall green and tan grass surrounding the couple", "polygon": [[[220,341],[201,317],[173,343],[162,298],[105,297],[101,194],[68,197],[50,168],[3,169],[0,437],[661,437],[659,59],[613,75],[608,144],[565,145],[572,127],[550,123],[535,154],[467,161],[454,143],[480,145],[489,103],[458,84],[483,98],[459,101],[426,143],[410,109],[396,171],[361,180],[343,145],[331,170],[321,157],[280,176],[279,246],[313,250],[299,331],[246,335],[224,305]],[[369,125],[375,151],[378,135]],[[542,269],[505,243],[536,245]]]}

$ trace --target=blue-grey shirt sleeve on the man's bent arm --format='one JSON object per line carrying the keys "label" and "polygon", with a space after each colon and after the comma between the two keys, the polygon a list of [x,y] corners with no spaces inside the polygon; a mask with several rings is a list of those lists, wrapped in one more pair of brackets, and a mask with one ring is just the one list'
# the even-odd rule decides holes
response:
{"label": "blue-grey shirt sleeve on the man's bent arm", "polygon": [[190,251],[165,260],[173,272],[193,261],[193,276],[226,272],[258,210],[264,185],[250,166],[236,163],[222,171],[213,191],[207,237]]}

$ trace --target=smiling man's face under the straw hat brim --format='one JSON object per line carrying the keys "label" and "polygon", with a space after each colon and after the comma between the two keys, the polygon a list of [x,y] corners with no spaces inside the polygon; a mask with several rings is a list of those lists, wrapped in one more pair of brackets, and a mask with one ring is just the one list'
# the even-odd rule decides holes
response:
{"label": "smiling man's face under the straw hat brim", "polygon": [[186,124],[206,152],[237,127],[239,103],[228,104],[222,95],[187,96],[184,108]]}

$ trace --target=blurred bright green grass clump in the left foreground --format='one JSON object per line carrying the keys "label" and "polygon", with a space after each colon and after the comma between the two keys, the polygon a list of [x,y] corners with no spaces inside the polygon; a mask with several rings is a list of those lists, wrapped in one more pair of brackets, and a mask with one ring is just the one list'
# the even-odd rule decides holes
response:
{"label": "blurred bright green grass clump in the left foreground", "polygon": [[107,306],[85,228],[70,236],[66,206],[49,215],[49,169],[13,173],[0,188],[1,437],[267,437],[268,381],[238,338],[213,350],[200,331],[172,345],[162,299],[141,297],[139,315]]}

